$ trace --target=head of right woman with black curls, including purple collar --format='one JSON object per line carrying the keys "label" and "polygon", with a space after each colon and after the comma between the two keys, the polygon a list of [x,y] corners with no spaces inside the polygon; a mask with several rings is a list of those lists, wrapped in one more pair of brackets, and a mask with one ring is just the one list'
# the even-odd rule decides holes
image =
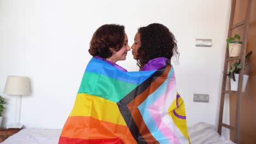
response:
{"label": "head of right woman with black curls, including purple collar", "polygon": [[139,70],[159,69],[173,55],[179,56],[174,35],[159,23],[139,28],[131,49]]}

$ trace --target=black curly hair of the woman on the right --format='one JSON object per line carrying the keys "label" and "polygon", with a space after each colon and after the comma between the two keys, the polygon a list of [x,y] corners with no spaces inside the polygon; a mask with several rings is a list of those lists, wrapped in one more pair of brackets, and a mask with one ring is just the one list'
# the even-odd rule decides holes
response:
{"label": "black curly hair of the woman on the right", "polygon": [[[138,48],[137,65],[141,70],[151,59],[165,57],[171,59],[173,55],[179,57],[177,41],[169,29],[160,24],[152,23],[140,27],[141,46]],[[176,58],[178,62],[178,58]]]}

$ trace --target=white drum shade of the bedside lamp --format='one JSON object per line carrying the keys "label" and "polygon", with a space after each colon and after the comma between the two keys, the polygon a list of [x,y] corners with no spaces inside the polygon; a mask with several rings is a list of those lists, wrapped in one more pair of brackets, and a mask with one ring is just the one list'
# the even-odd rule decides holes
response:
{"label": "white drum shade of the bedside lamp", "polygon": [[30,79],[24,76],[8,76],[4,87],[4,93],[10,95],[30,94]]}

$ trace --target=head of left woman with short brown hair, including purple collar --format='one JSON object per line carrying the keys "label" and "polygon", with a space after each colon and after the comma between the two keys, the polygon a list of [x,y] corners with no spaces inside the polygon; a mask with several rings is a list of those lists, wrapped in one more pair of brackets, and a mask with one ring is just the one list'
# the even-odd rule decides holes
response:
{"label": "head of left woman with short brown hair, including purple collar", "polygon": [[96,30],[90,42],[89,53],[95,58],[126,71],[115,63],[124,61],[130,50],[124,26],[111,24],[103,25]]}

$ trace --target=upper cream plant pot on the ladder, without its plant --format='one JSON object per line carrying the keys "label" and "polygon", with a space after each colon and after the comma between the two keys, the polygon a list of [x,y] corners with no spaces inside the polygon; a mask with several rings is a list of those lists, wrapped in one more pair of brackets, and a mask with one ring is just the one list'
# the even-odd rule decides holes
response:
{"label": "upper cream plant pot on the ladder, without its plant", "polygon": [[231,41],[229,42],[229,57],[240,56],[242,50],[241,41]]}

